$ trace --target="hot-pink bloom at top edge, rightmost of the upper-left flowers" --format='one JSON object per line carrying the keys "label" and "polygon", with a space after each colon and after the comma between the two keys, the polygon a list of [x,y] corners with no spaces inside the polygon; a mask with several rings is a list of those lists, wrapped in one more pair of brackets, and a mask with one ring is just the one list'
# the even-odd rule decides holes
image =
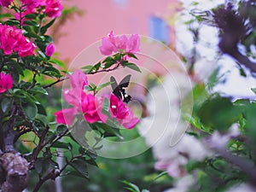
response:
{"label": "hot-pink bloom at top edge, rightmost of the upper-left flowers", "polygon": [[63,9],[61,0],[46,0],[45,4],[46,4],[46,8],[45,8],[46,15],[48,15],[49,17],[61,16],[61,11]]}

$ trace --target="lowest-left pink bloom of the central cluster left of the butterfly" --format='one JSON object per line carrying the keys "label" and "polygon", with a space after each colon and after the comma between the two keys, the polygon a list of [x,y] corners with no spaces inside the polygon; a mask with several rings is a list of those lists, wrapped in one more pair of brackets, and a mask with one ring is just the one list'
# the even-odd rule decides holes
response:
{"label": "lowest-left pink bloom of the central cluster left of the butterfly", "polygon": [[73,125],[73,120],[76,113],[76,108],[65,108],[57,111],[55,112],[56,122],[58,124]]}

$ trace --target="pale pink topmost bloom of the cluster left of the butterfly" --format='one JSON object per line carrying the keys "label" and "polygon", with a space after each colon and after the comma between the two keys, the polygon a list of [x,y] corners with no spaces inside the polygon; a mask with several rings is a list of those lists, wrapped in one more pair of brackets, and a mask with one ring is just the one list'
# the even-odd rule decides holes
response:
{"label": "pale pink topmost bloom of the cluster left of the butterfly", "polygon": [[73,89],[84,90],[84,86],[88,85],[87,76],[81,70],[76,70],[72,75],[68,75],[68,78]]}

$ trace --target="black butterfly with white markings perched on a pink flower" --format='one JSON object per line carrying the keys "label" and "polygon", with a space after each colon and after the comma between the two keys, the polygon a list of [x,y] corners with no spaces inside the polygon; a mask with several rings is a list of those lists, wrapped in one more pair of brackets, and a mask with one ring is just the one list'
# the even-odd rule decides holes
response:
{"label": "black butterfly with white markings perched on a pink flower", "polygon": [[118,84],[116,82],[116,79],[114,79],[113,76],[110,77],[110,82],[112,83],[111,87],[113,90],[113,95],[117,96],[119,100],[121,99],[123,100],[123,102],[126,102],[126,103],[131,101],[131,96],[125,93],[125,87],[128,87],[128,85],[130,84],[130,79],[131,79],[131,75],[127,75]]}

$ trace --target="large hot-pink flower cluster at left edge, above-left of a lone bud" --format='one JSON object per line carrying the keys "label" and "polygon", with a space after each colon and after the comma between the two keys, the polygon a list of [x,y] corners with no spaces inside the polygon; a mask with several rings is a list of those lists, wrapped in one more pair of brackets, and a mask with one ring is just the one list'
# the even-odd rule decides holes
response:
{"label": "large hot-pink flower cluster at left edge, above-left of a lone bud", "polygon": [[25,36],[21,29],[16,26],[7,26],[0,24],[0,49],[3,49],[5,55],[17,52],[20,56],[33,55],[35,44],[32,44]]}

